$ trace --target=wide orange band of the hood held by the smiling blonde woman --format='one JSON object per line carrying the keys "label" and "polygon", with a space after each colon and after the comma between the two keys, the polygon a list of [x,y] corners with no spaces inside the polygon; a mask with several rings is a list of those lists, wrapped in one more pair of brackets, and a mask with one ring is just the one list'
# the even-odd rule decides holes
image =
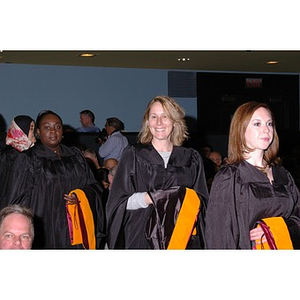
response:
{"label": "wide orange band of the hood held by the smiling blonde woman", "polygon": [[197,193],[186,188],[186,194],[176,220],[176,224],[168,245],[168,250],[185,249],[190,239],[200,209]]}

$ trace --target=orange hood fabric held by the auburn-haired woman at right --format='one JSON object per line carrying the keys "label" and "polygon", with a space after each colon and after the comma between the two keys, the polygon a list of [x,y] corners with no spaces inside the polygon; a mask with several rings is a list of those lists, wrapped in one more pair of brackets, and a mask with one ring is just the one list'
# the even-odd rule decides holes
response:
{"label": "orange hood fabric held by the auburn-haired woman at right", "polygon": [[[294,249],[289,230],[282,217],[271,217],[262,220],[269,227],[278,250]],[[260,225],[258,224],[257,226]],[[269,244],[267,242],[260,243],[260,240],[256,240],[255,247],[257,250],[270,250]]]}

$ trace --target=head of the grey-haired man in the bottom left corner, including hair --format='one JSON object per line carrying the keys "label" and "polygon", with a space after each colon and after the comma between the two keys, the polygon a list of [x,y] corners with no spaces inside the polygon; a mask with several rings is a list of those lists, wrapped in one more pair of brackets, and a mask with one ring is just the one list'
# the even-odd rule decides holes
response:
{"label": "head of the grey-haired man in the bottom left corner, including hair", "polygon": [[0,249],[28,250],[33,239],[33,213],[30,209],[10,205],[0,211]]}

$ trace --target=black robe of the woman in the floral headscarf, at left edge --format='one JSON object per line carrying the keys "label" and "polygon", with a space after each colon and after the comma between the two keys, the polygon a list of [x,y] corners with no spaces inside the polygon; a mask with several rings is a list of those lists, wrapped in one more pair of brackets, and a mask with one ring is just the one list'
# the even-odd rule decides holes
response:
{"label": "black robe of the woman in the floral headscarf, at left edge", "polygon": [[20,151],[8,145],[0,151],[0,209],[7,206],[7,189],[12,167]]}

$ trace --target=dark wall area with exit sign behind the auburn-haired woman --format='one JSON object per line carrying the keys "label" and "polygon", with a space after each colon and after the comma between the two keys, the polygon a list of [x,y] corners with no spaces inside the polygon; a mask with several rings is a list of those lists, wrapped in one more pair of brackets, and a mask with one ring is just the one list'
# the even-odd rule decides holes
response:
{"label": "dark wall area with exit sign behind the auburn-haired woman", "polygon": [[272,109],[282,153],[300,143],[298,75],[199,72],[197,95],[198,132],[202,140],[211,142],[214,136],[221,136],[219,147],[224,148],[224,136],[228,136],[235,110],[254,100],[267,102]]}

